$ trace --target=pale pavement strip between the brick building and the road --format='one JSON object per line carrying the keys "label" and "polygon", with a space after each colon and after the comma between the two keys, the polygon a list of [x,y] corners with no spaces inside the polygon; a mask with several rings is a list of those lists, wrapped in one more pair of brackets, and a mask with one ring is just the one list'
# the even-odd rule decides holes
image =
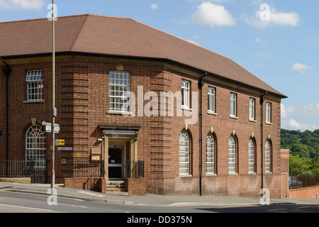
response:
{"label": "pale pavement strip between the brick building and the road", "polygon": [[[0,192],[19,192],[50,196],[50,184],[14,184],[0,182]],[[254,206],[260,205],[260,198],[242,198],[233,196],[169,196],[146,194],[145,196],[127,196],[121,194],[105,194],[84,189],[65,188],[63,184],[55,184],[57,196],[80,199],[84,201],[99,201],[111,204],[133,204],[140,206],[187,206],[187,205],[230,205]],[[270,199],[270,204],[318,204],[319,199]]]}

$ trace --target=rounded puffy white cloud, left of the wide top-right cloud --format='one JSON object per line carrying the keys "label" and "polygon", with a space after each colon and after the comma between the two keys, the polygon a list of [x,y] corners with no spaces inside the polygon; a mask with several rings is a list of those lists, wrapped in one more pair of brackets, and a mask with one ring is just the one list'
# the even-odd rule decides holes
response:
{"label": "rounded puffy white cloud, left of the wide top-right cloud", "polygon": [[224,6],[203,2],[197,6],[197,11],[191,16],[195,23],[211,28],[220,26],[234,26],[235,18]]}

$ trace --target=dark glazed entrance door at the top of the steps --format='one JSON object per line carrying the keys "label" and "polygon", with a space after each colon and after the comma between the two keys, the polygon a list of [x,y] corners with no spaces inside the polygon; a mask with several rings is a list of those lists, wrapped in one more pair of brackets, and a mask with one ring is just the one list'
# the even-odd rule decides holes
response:
{"label": "dark glazed entrance door at the top of the steps", "polygon": [[123,179],[123,145],[110,145],[108,147],[108,179]]}

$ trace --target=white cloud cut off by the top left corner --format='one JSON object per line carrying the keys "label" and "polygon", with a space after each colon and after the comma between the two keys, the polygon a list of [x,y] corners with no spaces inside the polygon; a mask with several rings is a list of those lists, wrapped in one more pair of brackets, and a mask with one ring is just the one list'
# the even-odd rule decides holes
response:
{"label": "white cloud cut off by the top left corner", "polygon": [[40,10],[45,5],[44,0],[0,0],[0,9]]}

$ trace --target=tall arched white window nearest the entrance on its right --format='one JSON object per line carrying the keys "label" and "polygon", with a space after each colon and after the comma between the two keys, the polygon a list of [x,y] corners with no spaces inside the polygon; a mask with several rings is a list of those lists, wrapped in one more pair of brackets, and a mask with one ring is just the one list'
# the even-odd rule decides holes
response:
{"label": "tall arched white window nearest the entrance on its right", "polygon": [[189,133],[179,135],[179,175],[189,175]]}

